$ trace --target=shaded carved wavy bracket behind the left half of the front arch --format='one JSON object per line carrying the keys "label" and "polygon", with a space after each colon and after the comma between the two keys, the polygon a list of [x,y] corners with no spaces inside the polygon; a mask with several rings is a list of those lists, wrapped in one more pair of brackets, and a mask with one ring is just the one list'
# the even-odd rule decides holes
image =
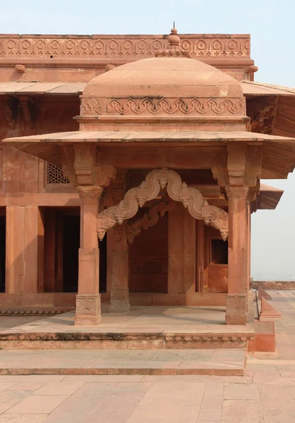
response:
{"label": "shaded carved wavy bracket behind the left half of the front arch", "polygon": [[150,206],[148,213],[145,213],[141,219],[131,221],[127,225],[127,241],[132,244],[134,238],[140,234],[143,229],[155,226],[159,221],[159,216],[163,217],[166,212],[174,209],[176,202],[171,198],[164,198]]}

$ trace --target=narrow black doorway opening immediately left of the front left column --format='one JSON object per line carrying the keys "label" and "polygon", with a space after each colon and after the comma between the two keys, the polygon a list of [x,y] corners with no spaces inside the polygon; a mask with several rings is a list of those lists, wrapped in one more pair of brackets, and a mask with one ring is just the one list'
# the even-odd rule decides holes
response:
{"label": "narrow black doorway opening immediately left of the front left column", "polygon": [[62,216],[63,285],[65,293],[78,291],[78,254],[80,247],[80,216]]}

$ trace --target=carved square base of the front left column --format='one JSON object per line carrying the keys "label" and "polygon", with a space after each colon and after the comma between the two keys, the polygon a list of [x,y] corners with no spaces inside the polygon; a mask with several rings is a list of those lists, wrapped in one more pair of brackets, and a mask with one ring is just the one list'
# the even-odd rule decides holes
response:
{"label": "carved square base of the front left column", "polygon": [[75,326],[96,326],[101,323],[100,294],[78,294]]}

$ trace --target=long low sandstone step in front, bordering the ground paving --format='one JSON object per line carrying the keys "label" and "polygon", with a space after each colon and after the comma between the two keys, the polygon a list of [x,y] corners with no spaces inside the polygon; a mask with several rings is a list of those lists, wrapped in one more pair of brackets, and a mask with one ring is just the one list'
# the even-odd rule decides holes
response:
{"label": "long low sandstone step in front, bordering the ground paving", "polygon": [[2,350],[0,374],[242,376],[245,350]]}

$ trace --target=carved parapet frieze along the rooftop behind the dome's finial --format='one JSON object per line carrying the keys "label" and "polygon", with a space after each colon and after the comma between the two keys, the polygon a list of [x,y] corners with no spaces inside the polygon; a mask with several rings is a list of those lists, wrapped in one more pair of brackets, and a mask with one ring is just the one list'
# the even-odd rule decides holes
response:
{"label": "carved parapet frieze along the rooftop behind the dome's finial", "polygon": [[[250,58],[248,35],[179,35],[180,49],[191,57]],[[16,36],[0,38],[2,59],[112,59],[138,60],[155,56],[167,49],[166,36],[99,35],[99,36]]]}

